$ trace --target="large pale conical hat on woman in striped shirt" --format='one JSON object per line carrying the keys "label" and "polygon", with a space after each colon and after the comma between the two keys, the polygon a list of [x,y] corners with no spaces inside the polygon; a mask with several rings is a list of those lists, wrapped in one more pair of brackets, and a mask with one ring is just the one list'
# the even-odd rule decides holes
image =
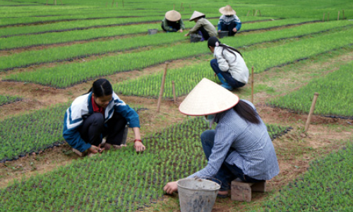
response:
{"label": "large pale conical hat on woman in striped shirt", "polygon": [[190,116],[215,114],[234,107],[238,101],[234,93],[203,78],[181,102],[179,111]]}

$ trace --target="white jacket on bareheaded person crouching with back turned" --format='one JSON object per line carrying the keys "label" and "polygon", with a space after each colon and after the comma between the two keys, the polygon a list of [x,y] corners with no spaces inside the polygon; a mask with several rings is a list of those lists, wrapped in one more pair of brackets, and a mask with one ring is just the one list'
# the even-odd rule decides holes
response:
{"label": "white jacket on bareheaded person crouching with back turned", "polygon": [[[243,57],[238,52],[232,51],[237,58],[229,52],[227,49],[223,51],[223,47],[215,47],[215,59],[217,59],[218,66],[221,71],[229,71],[232,77],[241,82],[248,83],[249,79],[249,69],[245,64]],[[230,50],[230,49],[229,49]]]}

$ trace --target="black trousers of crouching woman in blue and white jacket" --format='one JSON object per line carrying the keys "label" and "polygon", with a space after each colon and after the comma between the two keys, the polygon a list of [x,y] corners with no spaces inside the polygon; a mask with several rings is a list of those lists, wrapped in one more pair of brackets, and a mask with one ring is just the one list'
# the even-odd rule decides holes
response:
{"label": "black trousers of crouching woman in blue and white jacket", "polygon": [[103,114],[95,112],[83,120],[83,125],[78,131],[83,141],[94,146],[100,145],[105,136],[107,136],[107,143],[121,145],[126,123],[126,119],[121,114],[114,112],[113,117],[104,124]]}

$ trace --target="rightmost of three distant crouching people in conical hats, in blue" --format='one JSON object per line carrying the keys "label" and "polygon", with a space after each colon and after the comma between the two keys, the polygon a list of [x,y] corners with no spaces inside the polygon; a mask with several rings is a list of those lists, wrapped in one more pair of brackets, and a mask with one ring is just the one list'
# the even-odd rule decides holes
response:
{"label": "rightmost of three distant crouching people in conical hats, in blue", "polygon": [[236,12],[232,9],[231,6],[227,5],[220,8],[220,20],[218,21],[218,32],[228,31],[228,36],[235,35],[241,28],[241,21],[236,15]]}

